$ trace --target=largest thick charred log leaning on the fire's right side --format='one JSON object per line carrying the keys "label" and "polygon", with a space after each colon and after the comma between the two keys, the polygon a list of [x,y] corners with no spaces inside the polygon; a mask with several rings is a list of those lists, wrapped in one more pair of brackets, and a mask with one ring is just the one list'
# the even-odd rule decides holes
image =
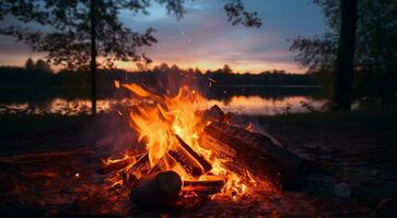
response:
{"label": "largest thick charred log leaning on the fire's right side", "polygon": [[229,170],[269,181],[275,187],[296,189],[303,184],[306,160],[275,145],[271,138],[222,122],[212,122],[201,137],[200,146],[226,160]]}

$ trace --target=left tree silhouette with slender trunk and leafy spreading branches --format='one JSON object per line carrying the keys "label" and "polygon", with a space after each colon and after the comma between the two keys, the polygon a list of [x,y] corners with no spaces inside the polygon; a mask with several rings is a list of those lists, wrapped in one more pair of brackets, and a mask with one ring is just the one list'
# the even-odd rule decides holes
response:
{"label": "left tree silhouette with slender trunk and leafy spreading branches", "polygon": [[[0,20],[12,15],[24,23],[35,23],[43,28],[24,28],[19,25],[1,29],[19,41],[26,43],[34,51],[47,52],[52,64],[69,69],[90,69],[92,113],[96,113],[97,58],[104,66],[112,68],[115,61],[135,62],[138,65],[151,62],[138,48],[156,43],[152,28],[145,33],[125,27],[119,20],[121,10],[132,14],[148,14],[152,2],[166,8],[168,14],[182,17],[185,0],[3,0],[0,3]],[[241,0],[226,0],[229,21],[245,26],[260,26],[256,13],[245,12]]]}

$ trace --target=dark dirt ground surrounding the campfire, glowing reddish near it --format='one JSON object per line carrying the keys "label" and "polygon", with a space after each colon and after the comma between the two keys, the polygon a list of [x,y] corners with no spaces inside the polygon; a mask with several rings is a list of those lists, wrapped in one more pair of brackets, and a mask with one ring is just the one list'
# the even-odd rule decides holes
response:
{"label": "dark dirt ground surrounding the campfire, glowing reddish near it", "polygon": [[[267,122],[261,130],[313,160],[305,187],[268,192],[250,187],[242,198],[200,199],[194,207],[139,210],[126,191],[106,190],[101,157],[131,140],[109,118],[77,122],[3,141],[0,150],[0,217],[390,217],[397,194],[394,128],[322,126]],[[361,126],[361,128],[360,128]]]}

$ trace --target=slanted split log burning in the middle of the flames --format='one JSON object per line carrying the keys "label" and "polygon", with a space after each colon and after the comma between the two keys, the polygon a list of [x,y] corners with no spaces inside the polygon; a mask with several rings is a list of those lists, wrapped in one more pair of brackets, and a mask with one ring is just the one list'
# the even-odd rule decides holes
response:
{"label": "slanted split log burning in the middle of the flames", "polygon": [[168,150],[168,155],[178,162],[187,173],[198,178],[212,169],[203,157],[191,149],[178,135],[175,135],[177,145]]}

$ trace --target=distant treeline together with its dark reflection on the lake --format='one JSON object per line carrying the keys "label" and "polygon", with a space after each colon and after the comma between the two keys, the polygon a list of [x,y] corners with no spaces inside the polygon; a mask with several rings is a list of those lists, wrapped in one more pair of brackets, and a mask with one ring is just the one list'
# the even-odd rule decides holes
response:
{"label": "distant treeline together with its dark reflection on the lake", "polygon": [[[38,63],[38,64],[37,64]],[[115,93],[114,81],[120,83],[143,84],[149,89],[175,94],[183,85],[190,86],[205,95],[217,98],[244,92],[247,95],[262,93],[281,96],[293,94],[307,94],[304,87],[316,86],[317,83],[311,75],[289,74],[285,71],[266,71],[259,74],[234,73],[227,65],[215,71],[201,72],[199,69],[182,70],[177,65],[168,66],[163,63],[151,70],[129,72],[125,70],[100,70],[97,73],[98,97],[109,97]],[[0,66],[0,88],[24,92],[26,95],[57,95],[69,97],[89,97],[90,73],[87,71],[61,70],[54,72],[49,65],[38,60],[36,64],[27,60],[25,68]],[[285,88],[266,92],[275,86]],[[300,90],[287,87],[303,87]],[[227,92],[225,92],[227,89]],[[285,93],[287,92],[287,93]],[[297,92],[297,93],[296,93]],[[310,90],[308,93],[313,93]],[[4,96],[5,95],[5,96]],[[261,95],[261,94],[260,94]],[[12,92],[0,94],[2,98],[12,97]]]}

